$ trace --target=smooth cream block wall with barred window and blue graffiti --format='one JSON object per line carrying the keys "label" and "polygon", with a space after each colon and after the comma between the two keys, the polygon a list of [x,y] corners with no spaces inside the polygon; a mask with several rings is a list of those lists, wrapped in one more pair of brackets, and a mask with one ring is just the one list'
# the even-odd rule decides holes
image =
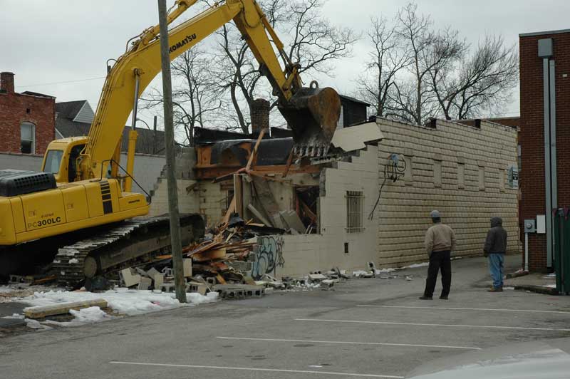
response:
{"label": "smooth cream block wall with barred window and blue graffiti", "polygon": [[[361,232],[349,233],[346,192],[363,192],[363,226]],[[368,219],[378,194],[378,147],[368,146],[351,162],[321,172],[319,198],[321,234],[285,235],[284,266],[276,267],[277,276],[304,276],[309,271],[364,269],[375,261],[378,219]],[[345,244],[348,244],[348,253]]]}

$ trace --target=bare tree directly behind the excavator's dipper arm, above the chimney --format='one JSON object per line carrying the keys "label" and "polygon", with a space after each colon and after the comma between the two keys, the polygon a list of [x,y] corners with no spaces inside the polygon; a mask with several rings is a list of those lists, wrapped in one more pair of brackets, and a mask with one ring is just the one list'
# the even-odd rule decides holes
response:
{"label": "bare tree directly behind the excavator's dipper arm, above the chimney", "polygon": [[[301,66],[299,72],[318,72],[332,75],[332,62],[351,55],[351,46],[357,37],[350,28],[333,26],[322,16],[327,0],[265,0],[261,8],[269,24],[281,36],[291,60]],[[260,81],[262,73],[247,42],[231,24],[223,26],[218,34],[216,68],[219,89],[227,93],[234,112],[233,119],[243,133],[249,132],[249,113],[257,97],[271,98],[272,89]],[[289,36],[289,38],[287,38]],[[274,109],[276,101],[271,104]]]}

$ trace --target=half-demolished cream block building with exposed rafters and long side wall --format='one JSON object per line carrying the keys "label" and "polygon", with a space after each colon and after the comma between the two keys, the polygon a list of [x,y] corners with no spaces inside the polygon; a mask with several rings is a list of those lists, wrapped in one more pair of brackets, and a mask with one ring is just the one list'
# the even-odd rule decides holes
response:
{"label": "half-demolished cream block building with exposed rafters and long side wall", "polygon": [[[509,251],[519,251],[518,190],[508,177],[517,164],[513,128],[377,118],[339,128],[328,155],[299,161],[290,159],[290,137],[258,141],[220,133],[214,140],[215,134],[178,162],[180,212],[202,214],[209,227],[237,212],[288,231],[259,237],[255,276],[426,261],[431,209],[455,229],[455,256],[481,254],[495,215],[504,219]],[[159,179],[150,212],[166,209],[166,181]]]}

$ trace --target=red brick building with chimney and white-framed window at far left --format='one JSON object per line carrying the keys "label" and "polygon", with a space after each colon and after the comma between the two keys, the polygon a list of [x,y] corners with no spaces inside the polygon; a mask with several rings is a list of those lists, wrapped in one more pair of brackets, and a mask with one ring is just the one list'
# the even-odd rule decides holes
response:
{"label": "red brick building with chimney and white-framed window at far left", "polygon": [[42,155],[55,134],[56,98],[14,92],[14,73],[0,73],[0,152]]}

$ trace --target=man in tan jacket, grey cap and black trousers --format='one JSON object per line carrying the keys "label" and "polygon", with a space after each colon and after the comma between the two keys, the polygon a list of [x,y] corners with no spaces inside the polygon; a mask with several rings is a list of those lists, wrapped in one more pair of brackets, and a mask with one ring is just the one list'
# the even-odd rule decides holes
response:
{"label": "man in tan jacket, grey cap and black trousers", "polygon": [[437,281],[437,273],[441,269],[442,291],[440,298],[447,300],[451,287],[451,251],[455,250],[455,233],[453,229],[441,223],[440,212],[430,212],[433,226],[425,233],[425,250],[430,256],[430,266],[427,268],[425,291],[422,300],[431,300]]}

